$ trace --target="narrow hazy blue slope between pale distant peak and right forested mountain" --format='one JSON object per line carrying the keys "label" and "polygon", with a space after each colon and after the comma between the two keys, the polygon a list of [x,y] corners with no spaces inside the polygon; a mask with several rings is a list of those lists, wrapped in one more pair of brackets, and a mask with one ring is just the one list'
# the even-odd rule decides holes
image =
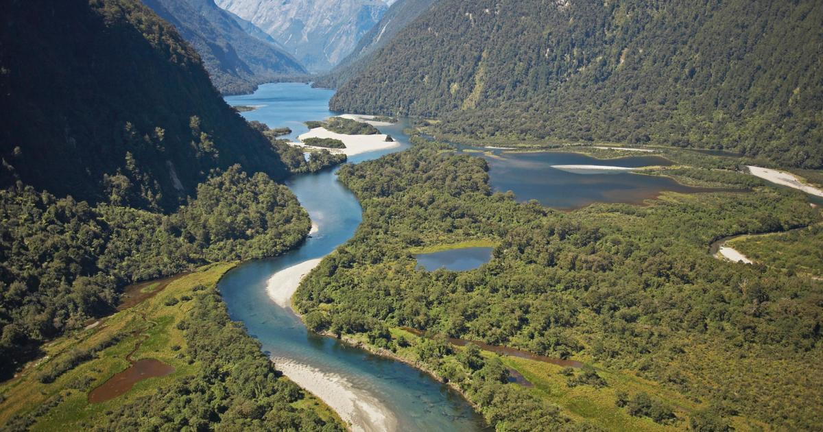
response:
{"label": "narrow hazy blue slope between pale distant peak and right forested mountain", "polygon": [[337,88],[363,70],[374,53],[388,44],[394,35],[406,28],[429,9],[436,0],[398,0],[383,18],[357,43],[354,51],[337,64],[328,75],[314,81],[316,86]]}

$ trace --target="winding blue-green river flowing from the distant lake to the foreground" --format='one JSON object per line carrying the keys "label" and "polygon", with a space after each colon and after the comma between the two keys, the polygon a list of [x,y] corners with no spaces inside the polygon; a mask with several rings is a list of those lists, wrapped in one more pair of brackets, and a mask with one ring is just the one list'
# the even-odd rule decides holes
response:
{"label": "winding blue-green river flowing from the distant lake to the foreground", "polygon": [[[272,128],[289,126],[298,135],[305,130],[302,121],[333,115],[328,111],[331,95],[328,90],[281,83],[226,100],[230,105],[265,105],[244,116]],[[401,146],[351,156],[349,161],[357,163],[407,148],[408,137],[402,128],[402,124],[380,128]],[[278,283],[272,275],[323,258],[350,239],[361,221],[360,204],[337,181],[334,171],[296,176],[287,184],[317,228],[300,249],[246,262],[226,274],[219,288],[231,318],[245,324],[278,369],[309,390],[323,388],[328,393],[325,396],[314,393],[338,411],[347,407],[349,412],[341,415],[351,421],[354,430],[484,430],[481,416],[444,384],[409,365],[311,334],[291,309],[269,298],[267,286]]]}

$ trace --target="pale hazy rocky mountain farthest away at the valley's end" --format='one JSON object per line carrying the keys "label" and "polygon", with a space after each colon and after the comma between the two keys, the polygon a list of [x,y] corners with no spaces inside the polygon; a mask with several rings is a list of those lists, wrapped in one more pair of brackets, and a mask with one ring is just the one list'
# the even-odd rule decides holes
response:
{"label": "pale hazy rocky mountain farthest away at the valley's end", "polygon": [[291,50],[309,71],[328,71],[384,12],[380,0],[216,0]]}

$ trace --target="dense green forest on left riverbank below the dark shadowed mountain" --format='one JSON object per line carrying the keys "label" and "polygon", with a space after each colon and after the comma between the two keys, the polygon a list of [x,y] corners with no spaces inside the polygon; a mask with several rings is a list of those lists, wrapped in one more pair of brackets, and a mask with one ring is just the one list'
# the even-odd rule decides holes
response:
{"label": "dense green forest on left riverbank below the dark shadowed mountain", "polygon": [[170,215],[122,201],[113,194],[92,207],[20,183],[0,191],[3,376],[40,342],[110,313],[128,283],[277,255],[310,227],[288,188],[238,166],[214,174]]}

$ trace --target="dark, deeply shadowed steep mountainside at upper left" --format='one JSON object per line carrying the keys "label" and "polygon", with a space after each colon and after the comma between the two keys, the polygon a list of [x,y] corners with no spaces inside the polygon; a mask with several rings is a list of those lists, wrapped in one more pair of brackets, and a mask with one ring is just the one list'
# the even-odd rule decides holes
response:
{"label": "dark, deeply shadowed steep mountainside at upper left", "polygon": [[140,2],[3,2],[0,14],[0,187],[170,210],[216,168],[286,175]]}

